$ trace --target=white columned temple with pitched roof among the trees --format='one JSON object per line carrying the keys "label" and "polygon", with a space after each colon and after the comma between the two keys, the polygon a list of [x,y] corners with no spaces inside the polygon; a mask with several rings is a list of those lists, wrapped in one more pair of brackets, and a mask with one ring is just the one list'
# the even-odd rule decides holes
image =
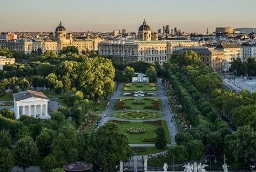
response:
{"label": "white columned temple with pitched roof among the trees", "polygon": [[49,99],[42,92],[26,90],[14,95],[14,113],[16,119],[21,115],[29,115],[35,118],[47,119]]}

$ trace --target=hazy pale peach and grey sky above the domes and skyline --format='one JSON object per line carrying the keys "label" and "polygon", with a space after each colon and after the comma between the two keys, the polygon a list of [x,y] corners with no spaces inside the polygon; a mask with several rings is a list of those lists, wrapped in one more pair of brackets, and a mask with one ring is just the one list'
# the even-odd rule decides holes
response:
{"label": "hazy pale peach and grey sky above the domes and skyline", "polygon": [[256,0],[3,0],[2,31],[137,32],[144,18],[152,31],[177,27],[185,33],[215,27],[256,27]]}

